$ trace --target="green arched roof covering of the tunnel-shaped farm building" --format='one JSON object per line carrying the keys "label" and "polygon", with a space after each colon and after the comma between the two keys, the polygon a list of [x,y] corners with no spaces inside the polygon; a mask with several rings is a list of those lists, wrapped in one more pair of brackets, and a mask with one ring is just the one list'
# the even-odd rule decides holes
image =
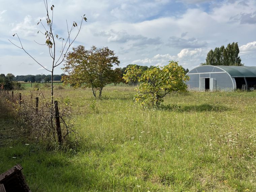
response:
{"label": "green arched roof covering of the tunnel-shaped farm building", "polygon": [[255,66],[223,66],[217,65],[227,73],[230,74],[231,77],[249,77],[255,76],[256,77],[256,67]]}

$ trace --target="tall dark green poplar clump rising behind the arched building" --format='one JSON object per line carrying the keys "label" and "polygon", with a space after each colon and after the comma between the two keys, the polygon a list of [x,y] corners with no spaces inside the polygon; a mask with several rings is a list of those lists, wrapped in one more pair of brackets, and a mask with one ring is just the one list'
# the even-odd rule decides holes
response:
{"label": "tall dark green poplar clump rising behind the arched building", "polygon": [[[215,50],[210,50],[205,59],[206,65],[235,65],[243,66],[239,57],[238,43],[229,43],[225,48],[224,45],[216,47]],[[200,64],[204,65],[204,64]]]}

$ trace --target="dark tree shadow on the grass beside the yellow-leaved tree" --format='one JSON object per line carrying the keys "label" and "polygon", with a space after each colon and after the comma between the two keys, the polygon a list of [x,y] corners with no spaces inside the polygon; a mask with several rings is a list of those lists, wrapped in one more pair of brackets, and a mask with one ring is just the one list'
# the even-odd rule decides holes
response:
{"label": "dark tree shadow on the grass beside the yellow-leaved tree", "polygon": [[178,112],[202,112],[202,111],[226,111],[228,107],[223,105],[210,105],[210,104],[199,104],[199,105],[161,105],[158,107],[159,110],[178,111]]}

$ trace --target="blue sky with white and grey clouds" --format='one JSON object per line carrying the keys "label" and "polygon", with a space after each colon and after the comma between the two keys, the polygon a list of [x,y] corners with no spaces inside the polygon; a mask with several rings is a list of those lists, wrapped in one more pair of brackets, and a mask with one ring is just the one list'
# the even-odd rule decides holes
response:
{"label": "blue sky with white and grey clouds", "polygon": [[[0,0],[0,73],[16,75],[49,74],[49,50],[45,36],[37,25],[45,24],[43,0]],[[178,61],[192,69],[205,62],[215,47],[238,42],[242,63],[256,66],[256,1],[255,0],[48,0],[54,5],[53,29],[67,38],[67,24],[88,19],[72,45],[90,49],[108,46],[118,55],[119,67],[128,64],[164,66]],[[72,31],[71,39],[77,30]],[[35,42],[36,41],[36,42]],[[71,47],[72,48],[72,47]],[[61,40],[57,41],[57,53]],[[72,49],[70,49],[71,51]],[[64,63],[63,63],[64,64]],[[54,73],[61,74],[63,65]]]}

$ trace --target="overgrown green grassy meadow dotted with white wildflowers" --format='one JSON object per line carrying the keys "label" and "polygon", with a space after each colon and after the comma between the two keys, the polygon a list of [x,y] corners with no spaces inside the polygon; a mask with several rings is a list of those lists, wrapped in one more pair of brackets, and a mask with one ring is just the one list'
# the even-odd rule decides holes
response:
{"label": "overgrown green grassy meadow dotted with white wildflowers", "polygon": [[47,151],[0,116],[0,173],[20,163],[32,191],[256,191],[256,92],[170,94],[161,110],[134,87],[55,93],[73,105],[75,150]]}

